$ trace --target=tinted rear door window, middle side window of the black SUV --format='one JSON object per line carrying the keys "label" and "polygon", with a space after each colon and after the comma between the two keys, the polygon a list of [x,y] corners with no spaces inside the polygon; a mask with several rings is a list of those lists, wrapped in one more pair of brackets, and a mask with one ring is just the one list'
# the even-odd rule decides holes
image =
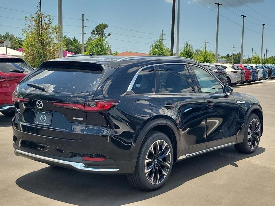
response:
{"label": "tinted rear door window, middle side window of the black SUV", "polygon": [[184,64],[159,65],[159,93],[195,93],[194,86]]}

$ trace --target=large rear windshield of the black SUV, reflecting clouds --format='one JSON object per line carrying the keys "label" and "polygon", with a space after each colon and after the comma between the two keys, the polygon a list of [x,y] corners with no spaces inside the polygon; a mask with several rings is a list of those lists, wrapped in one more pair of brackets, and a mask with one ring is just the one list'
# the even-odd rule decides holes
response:
{"label": "large rear windshield of the black SUV, reflecting clouds", "polygon": [[102,76],[100,68],[80,65],[46,66],[23,80],[19,87],[38,90],[27,85],[37,84],[43,86],[47,92],[80,93],[96,90]]}

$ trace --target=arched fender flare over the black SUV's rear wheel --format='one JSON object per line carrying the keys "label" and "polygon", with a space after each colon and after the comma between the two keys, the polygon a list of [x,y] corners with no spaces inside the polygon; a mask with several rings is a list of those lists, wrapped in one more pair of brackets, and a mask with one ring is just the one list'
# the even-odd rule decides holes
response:
{"label": "arched fender flare over the black SUV's rear wheel", "polygon": [[137,156],[138,156],[139,150],[140,150],[140,146],[145,138],[145,135],[148,133],[148,131],[150,131],[153,127],[159,126],[159,125],[166,125],[170,129],[172,129],[172,131],[175,134],[176,141],[177,141],[177,151],[180,150],[180,131],[179,131],[179,129],[177,129],[177,127],[175,126],[175,123],[173,123],[172,121],[167,120],[165,118],[159,118],[159,119],[155,119],[153,121],[148,122],[139,132],[138,136],[136,137],[135,146],[134,146],[133,154],[132,154],[132,160],[137,159]]}

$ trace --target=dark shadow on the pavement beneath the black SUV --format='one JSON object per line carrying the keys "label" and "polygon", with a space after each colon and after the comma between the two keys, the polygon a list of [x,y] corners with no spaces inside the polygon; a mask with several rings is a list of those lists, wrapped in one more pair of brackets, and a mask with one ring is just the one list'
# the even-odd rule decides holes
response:
{"label": "dark shadow on the pavement beneath the black SUV", "polygon": [[241,154],[231,146],[183,160],[174,164],[166,184],[152,192],[133,188],[125,175],[95,175],[58,167],[26,174],[16,184],[32,193],[75,205],[124,205],[163,194],[224,166],[238,167],[237,161],[263,152],[265,148],[259,147],[255,153]]}

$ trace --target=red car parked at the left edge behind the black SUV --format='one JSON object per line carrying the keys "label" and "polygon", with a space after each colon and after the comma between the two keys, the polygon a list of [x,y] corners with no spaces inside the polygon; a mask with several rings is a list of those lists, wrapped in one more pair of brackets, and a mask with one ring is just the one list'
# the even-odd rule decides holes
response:
{"label": "red car parked at the left edge behind the black SUV", "polygon": [[32,71],[23,59],[0,54],[0,112],[14,116],[12,93],[20,80]]}

